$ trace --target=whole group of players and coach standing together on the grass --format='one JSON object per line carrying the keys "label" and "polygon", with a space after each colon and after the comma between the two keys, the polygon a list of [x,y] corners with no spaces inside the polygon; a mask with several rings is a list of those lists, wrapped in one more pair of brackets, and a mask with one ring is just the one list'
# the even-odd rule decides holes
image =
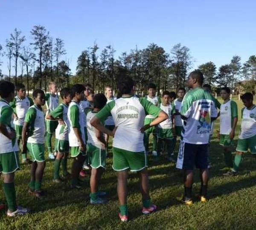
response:
{"label": "whole group of players and coach standing together on the grass", "polygon": [[[253,94],[245,93],[241,99],[241,130],[236,155],[233,159],[230,145],[235,137],[238,121],[236,102],[230,99],[230,88],[221,88],[223,104],[210,94],[210,85],[203,85],[203,74],[189,74],[188,88],[175,92],[163,91],[156,96],[156,85],[148,85],[146,97],[134,96],[135,85],[130,77],[117,82],[118,96],[113,97],[111,87],[105,94],[94,94],[89,84],[75,84],[60,91],[49,83],[49,94],[35,89],[32,98],[26,96],[23,84],[0,82],[0,172],[3,191],[8,205],[7,216],[24,215],[28,208],[17,206],[14,177],[20,168],[19,148],[23,164],[31,164],[28,191],[42,199],[45,163],[45,144],[49,159],[54,160],[54,183],[71,180],[72,189],[81,189],[80,176],[90,174],[90,204],[104,204],[106,192],[99,190],[106,157],[113,137],[113,170],[117,175],[119,218],[128,221],[128,170],[137,172],[142,194],[142,213],[157,209],[151,203],[148,182],[149,137],[153,135],[152,158],[158,162],[167,153],[167,160],[183,170],[184,196],[182,202],[192,204],[194,168],[199,168],[201,202],[207,201],[208,170],[211,167],[209,142],[214,121],[220,117],[219,144],[223,146],[225,176],[236,176],[242,153],[256,153],[256,106]],[[16,96],[15,96],[16,91]],[[46,114],[43,106],[46,104]],[[55,145],[52,148],[52,135]],[[179,142],[179,151],[175,146]],[[29,153],[29,156],[27,156]],[[67,170],[68,156],[73,159],[71,173]],[[30,159],[29,159],[30,158]],[[60,176],[60,168],[62,175]],[[5,207],[0,204],[0,209]]]}

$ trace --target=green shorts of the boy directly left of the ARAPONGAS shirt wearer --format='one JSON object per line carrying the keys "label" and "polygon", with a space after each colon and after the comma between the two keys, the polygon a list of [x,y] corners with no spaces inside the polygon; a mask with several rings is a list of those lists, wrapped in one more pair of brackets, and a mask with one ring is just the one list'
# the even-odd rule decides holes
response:
{"label": "green shorts of the boy directly left of the ARAPONGAS shirt wearer", "polygon": [[106,150],[97,148],[92,144],[86,146],[87,154],[89,156],[92,168],[106,168]]}

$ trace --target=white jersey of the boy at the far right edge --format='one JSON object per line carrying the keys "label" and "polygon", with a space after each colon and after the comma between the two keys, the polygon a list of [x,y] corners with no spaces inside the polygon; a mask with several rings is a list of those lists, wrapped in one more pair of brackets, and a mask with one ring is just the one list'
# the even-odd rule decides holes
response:
{"label": "white jersey of the boy at the far right edge", "polygon": [[256,135],[256,106],[250,110],[247,108],[242,109],[242,122],[239,139],[247,139]]}

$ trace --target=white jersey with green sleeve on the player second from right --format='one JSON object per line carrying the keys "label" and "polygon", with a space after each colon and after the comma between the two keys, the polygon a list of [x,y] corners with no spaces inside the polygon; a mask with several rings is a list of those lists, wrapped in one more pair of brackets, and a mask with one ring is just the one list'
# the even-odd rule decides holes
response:
{"label": "white jersey with green sleeve on the player second from right", "polygon": [[221,104],[220,108],[220,134],[229,135],[232,126],[233,119],[237,117],[237,105],[236,102],[228,100],[226,103]]}

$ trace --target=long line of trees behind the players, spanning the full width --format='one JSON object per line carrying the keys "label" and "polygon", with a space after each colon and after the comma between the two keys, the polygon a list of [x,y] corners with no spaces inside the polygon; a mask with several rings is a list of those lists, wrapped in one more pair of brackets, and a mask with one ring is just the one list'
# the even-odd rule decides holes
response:
{"label": "long line of trees behind the players, spanning the full width", "polygon": [[[24,45],[26,37],[21,31],[15,30],[0,45],[1,56],[8,60],[9,75],[0,77],[5,80],[22,82],[28,89],[47,88],[49,81],[56,81],[60,88],[74,83],[90,83],[95,91],[102,91],[106,85],[116,88],[116,82],[128,74],[136,82],[138,92],[146,91],[149,82],[157,84],[158,93],[161,90],[177,91],[186,85],[186,78],[192,70],[194,58],[188,47],[180,43],[169,51],[155,43],[146,48],[137,46],[129,52],[122,52],[116,57],[116,50],[107,45],[99,52],[96,43],[84,48],[77,59],[76,73],[71,74],[70,61],[63,60],[67,54],[64,41],[53,39],[44,26],[33,26],[30,31],[32,40]],[[0,62],[1,64],[1,62]],[[20,68],[20,75],[17,75]],[[205,77],[205,83],[215,87],[229,86],[234,89],[237,82],[250,80],[250,88],[256,86],[256,56],[252,55],[245,63],[241,57],[234,55],[230,63],[216,65],[209,61],[198,68]],[[12,74],[12,73],[15,74]],[[254,84],[254,86],[252,86]]]}

